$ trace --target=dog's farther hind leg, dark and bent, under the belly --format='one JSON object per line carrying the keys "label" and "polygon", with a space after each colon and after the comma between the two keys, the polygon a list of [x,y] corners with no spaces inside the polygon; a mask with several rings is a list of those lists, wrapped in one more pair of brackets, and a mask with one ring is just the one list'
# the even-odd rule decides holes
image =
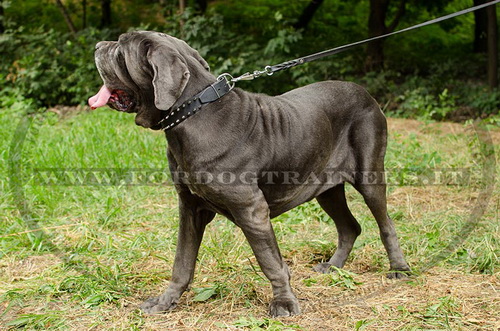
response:
{"label": "dog's farther hind leg, dark and bent, under the belly", "polygon": [[333,219],[338,232],[338,245],[335,254],[328,262],[320,263],[313,268],[315,271],[328,273],[331,271],[331,266],[338,268],[344,266],[354,241],[361,233],[361,227],[347,206],[344,184],[329,189],[319,195],[316,200]]}

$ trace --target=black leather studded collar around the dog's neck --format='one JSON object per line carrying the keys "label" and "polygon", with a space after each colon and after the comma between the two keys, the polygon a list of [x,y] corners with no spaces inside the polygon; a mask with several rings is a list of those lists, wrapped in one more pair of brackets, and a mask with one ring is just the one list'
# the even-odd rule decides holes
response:
{"label": "black leather studded collar around the dog's neck", "polygon": [[179,107],[173,109],[165,118],[158,122],[158,124],[161,125],[161,129],[164,131],[172,129],[196,114],[204,104],[222,98],[231,91],[233,86],[234,85],[230,85],[230,82],[225,77],[219,77],[217,82],[211,84],[194,97],[185,101]]}

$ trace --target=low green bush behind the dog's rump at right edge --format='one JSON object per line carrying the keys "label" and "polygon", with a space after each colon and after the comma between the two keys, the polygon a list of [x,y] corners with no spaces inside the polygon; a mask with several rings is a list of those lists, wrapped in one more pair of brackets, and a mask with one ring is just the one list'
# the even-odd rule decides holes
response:
{"label": "low green bush behind the dog's rump at right edge", "polygon": [[444,65],[433,74],[403,75],[385,70],[353,79],[365,86],[390,116],[462,121],[498,114],[500,90],[468,77],[457,78],[461,76],[454,66]]}

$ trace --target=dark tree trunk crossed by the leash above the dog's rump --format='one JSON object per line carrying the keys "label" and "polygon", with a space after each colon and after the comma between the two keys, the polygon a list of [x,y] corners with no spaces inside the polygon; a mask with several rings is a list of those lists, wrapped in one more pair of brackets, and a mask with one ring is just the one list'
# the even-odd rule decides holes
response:
{"label": "dark tree trunk crossed by the leash above the dog's rump", "polygon": [[[389,0],[370,0],[370,16],[368,17],[368,37],[376,37],[386,33],[385,18]],[[372,41],[367,47],[365,67],[367,71],[381,69],[384,65],[384,41]]]}

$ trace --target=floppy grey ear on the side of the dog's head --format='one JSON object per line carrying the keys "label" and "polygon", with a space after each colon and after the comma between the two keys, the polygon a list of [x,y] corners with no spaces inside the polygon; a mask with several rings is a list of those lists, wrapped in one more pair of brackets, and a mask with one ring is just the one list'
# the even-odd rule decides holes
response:
{"label": "floppy grey ear on the side of the dog's head", "polygon": [[155,106],[170,109],[179,99],[189,81],[190,72],[180,54],[165,47],[152,47],[147,60],[153,69]]}

